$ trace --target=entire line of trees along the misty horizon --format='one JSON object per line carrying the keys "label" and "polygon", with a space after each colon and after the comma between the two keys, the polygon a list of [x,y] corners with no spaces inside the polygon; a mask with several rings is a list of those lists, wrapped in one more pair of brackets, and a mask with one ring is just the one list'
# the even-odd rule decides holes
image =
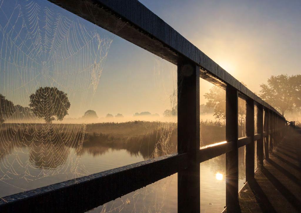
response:
{"label": "entire line of trees along the misty horizon", "polygon": [[[286,111],[301,112],[301,75],[288,76],[281,74],[271,76],[266,84],[260,85],[259,96],[280,111],[282,115]],[[225,90],[213,87],[204,95],[207,102],[200,105],[200,113],[213,113],[216,119],[225,119]],[[63,120],[68,115],[70,102],[67,94],[58,90],[56,87],[40,87],[35,93],[29,96],[29,107],[14,105],[14,103],[0,94],[0,124],[14,115],[16,119],[32,119],[42,118],[46,123],[53,120]],[[245,101],[239,99],[238,114],[240,122],[245,119],[246,105]],[[163,112],[163,116],[177,116],[177,106],[167,109]],[[135,113],[138,116],[159,116],[159,114],[151,114],[150,112]],[[107,114],[106,118],[113,118],[112,114]],[[115,115],[116,118],[123,118],[120,113]],[[82,118],[98,118],[94,110],[87,110]]]}

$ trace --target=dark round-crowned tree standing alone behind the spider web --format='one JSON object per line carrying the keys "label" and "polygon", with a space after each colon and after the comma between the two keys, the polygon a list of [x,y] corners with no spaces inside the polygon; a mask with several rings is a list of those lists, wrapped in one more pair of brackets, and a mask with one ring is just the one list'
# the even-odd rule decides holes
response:
{"label": "dark round-crowned tree standing alone behind the spider web", "polygon": [[70,102],[67,94],[56,87],[40,87],[29,98],[30,109],[48,124],[55,120],[55,117],[61,121],[68,115]]}

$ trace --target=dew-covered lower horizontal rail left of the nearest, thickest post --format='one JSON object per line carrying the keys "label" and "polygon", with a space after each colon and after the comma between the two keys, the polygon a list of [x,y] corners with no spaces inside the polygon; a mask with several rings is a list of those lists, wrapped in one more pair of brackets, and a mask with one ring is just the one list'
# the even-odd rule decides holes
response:
{"label": "dew-covered lower horizontal rail left of the nearest, thickest post", "polygon": [[188,154],[175,153],[114,168],[3,197],[0,212],[84,212],[175,174],[187,165]]}

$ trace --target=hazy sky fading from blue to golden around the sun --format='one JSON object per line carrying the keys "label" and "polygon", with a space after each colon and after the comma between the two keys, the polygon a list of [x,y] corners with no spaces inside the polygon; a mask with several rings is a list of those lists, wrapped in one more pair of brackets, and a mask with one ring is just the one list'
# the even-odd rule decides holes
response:
{"label": "hazy sky fading from blue to golden around the sun", "polygon": [[[7,7],[10,6],[8,0],[4,2],[7,3]],[[21,0],[17,2],[24,6],[24,10],[32,11],[28,7],[34,8],[33,5],[26,6],[28,2]],[[134,113],[143,111],[158,113],[162,116],[164,110],[172,107],[170,97],[176,88],[177,76],[175,65],[76,17],[74,14],[51,5],[49,2],[35,2],[38,2],[37,4],[41,8],[45,6],[54,8],[52,11],[64,14],[70,20],[79,20],[78,22],[87,29],[85,33],[95,30],[101,38],[113,40],[107,51],[107,57],[102,63],[103,69],[99,75],[99,82],[96,86],[95,84],[91,86],[89,82],[90,76],[88,74],[93,72],[91,68],[93,66],[90,67],[91,73],[87,75],[84,68],[78,68],[78,64],[84,66],[86,61],[93,64],[93,61],[85,56],[93,54],[92,50],[97,48],[98,40],[94,37],[92,45],[87,46],[86,52],[83,48],[83,52],[79,51],[79,54],[70,54],[77,54],[73,62],[72,60],[66,62],[73,64],[65,64],[64,70],[58,71],[59,68],[51,70],[52,72],[63,72],[62,77],[59,74],[55,77],[52,75],[49,80],[49,76],[45,77],[45,69],[41,71],[40,69],[43,68],[37,68],[34,72],[18,70],[19,77],[17,78],[19,80],[14,80],[15,75],[8,77],[7,66],[4,67],[4,63],[2,63],[0,66],[0,81],[2,81],[0,93],[3,93],[16,104],[27,106],[29,95],[39,85],[57,86],[64,90],[70,99],[71,107],[66,118],[80,117],[86,110],[95,110],[99,117],[104,117],[107,113],[113,115],[121,113],[131,117]],[[271,75],[301,73],[300,1],[141,0],[140,2],[237,80],[244,82],[255,93],[259,93],[259,85],[265,83]],[[0,11],[2,17],[9,14],[9,10],[3,9],[4,6],[5,3]],[[37,14],[43,16],[43,10]],[[2,18],[1,20],[2,29],[5,29],[6,33],[3,35],[12,37],[13,35],[9,34],[9,29],[4,28],[8,19],[5,21],[5,18]],[[42,26],[44,23],[41,21],[39,24],[41,25],[41,35],[43,35],[42,30],[44,28]],[[55,29],[55,23],[49,26]],[[32,32],[35,32],[33,30]],[[77,31],[73,29],[72,32],[76,35]],[[55,31],[50,29],[50,33],[54,34]],[[85,35],[85,33],[79,36]],[[23,39],[26,40],[25,37]],[[75,40],[73,39],[73,41]],[[5,46],[2,43],[2,49]],[[71,50],[68,52],[70,53]],[[66,58],[69,60],[70,57],[67,55]],[[2,60],[7,61],[8,59],[10,60],[9,54],[6,54],[5,57],[2,54]],[[53,64],[59,65],[58,62],[60,60],[54,61]],[[42,61],[39,61],[39,64],[41,63]],[[87,63],[87,67],[89,63]],[[37,67],[41,67],[41,65]],[[14,72],[14,69],[12,66],[9,67],[11,72]],[[83,70],[74,73],[71,69]],[[30,82],[33,82],[32,79],[35,76],[33,73],[38,73],[42,77],[35,80],[35,84],[28,86],[31,84]],[[23,90],[26,91],[25,94],[17,94],[17,88],[20,87],[26,88]],[[77,87],[81,89],[76,89]],[[206,103],[203,94],[208,92],[211,87],[212,84],[201,80],[201,103]]]}

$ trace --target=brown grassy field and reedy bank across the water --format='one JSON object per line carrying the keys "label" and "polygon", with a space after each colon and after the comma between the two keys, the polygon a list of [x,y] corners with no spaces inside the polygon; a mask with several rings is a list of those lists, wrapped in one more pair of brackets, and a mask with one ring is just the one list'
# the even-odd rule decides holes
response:
{"label": "brown grassy field and reedy bank across the water", "polygon": [[[75,144],[82,142],[79,155],[84,150],[98,155],[111,148],[125,149],[132,155],[141,154],[147,159],[177,151],[175,122],[131,121],[49,126],[40,123],[4,123],[1,125],[0,134],[1,140],[14,140],[24,146],[51,141],[67,147],[77,147]],[[201,121],[200,136],[201,146],[224,141],[225,125],[217,121]]]}

